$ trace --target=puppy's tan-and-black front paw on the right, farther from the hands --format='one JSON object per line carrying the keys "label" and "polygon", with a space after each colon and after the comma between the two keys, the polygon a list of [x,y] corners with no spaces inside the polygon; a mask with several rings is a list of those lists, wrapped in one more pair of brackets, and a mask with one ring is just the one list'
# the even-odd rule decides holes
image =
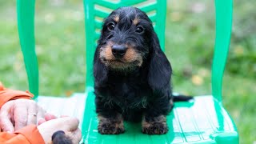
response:
{"label": "puppy's tan-and-black front paw on the right, farther from the hands", "polygon": [[168,126],[166,124],[166,116],[152,118],[152,121],[146,122],[145,118],[142,121],[143,134],[166,134]]}

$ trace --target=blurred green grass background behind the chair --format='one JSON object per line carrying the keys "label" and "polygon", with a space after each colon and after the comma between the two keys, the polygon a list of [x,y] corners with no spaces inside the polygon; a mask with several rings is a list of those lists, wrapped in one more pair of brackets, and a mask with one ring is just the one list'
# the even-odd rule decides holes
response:
{"label": "blurred green grass background behind the chair", "polygon": [[[256,2],[234,0],[230,55],[223,103],[238,126],[241,143],[256,142]],[[0,80],[27,90],[18,41],[14,1],[0,1]],[[166,54],[174,68],[174,91],[210,94],[214,50],[214,1],[168,1]],[[82,1],[36,2],[35,35],[40,94],[70,96],[85,85],[85,35]]]}

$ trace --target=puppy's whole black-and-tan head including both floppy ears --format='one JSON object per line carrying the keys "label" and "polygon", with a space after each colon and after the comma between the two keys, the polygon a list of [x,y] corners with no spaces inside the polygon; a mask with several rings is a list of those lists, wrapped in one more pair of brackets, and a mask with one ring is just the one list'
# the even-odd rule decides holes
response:
{"label": "puppy's whole black-and-tan head including both floppy ears", "polygon": [[170,62],[150,18],[138,8],[121,7],[103,23],[94,55],[94,82],[97,86],[105,82],[109,70],[126,72],[140,66],[145,66],[153,90],[170,87]]}

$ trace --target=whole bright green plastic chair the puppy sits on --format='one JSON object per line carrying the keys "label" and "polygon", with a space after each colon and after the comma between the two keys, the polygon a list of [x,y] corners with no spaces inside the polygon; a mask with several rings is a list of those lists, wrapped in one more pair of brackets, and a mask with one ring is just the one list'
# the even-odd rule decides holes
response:
{"label": "whole bright green plastic chair the puppy sits on", "polygon": [[80,118],[85,143],[231,143],[239,142],[238,131],[222,106],[222,76],[230,45],[232,0],[215,0],[216,39],[212,66],[212,94],[197,96],[194,102],[177,102],[167,117],[167,134],[146,135],[140,124],[125,123],[126,133],[98,134],[94,106],[93,55],[100,35],[102,19],[119,6],[137,6],[154,22],[162,50],[165,44],[166,0],[84,0],[86,18],[86,91],[70,98],[38,97],[38,63],[34,48],[34,0],[17,0],[18,32],[26,65],[30,91],[40,105],[56,114]]}

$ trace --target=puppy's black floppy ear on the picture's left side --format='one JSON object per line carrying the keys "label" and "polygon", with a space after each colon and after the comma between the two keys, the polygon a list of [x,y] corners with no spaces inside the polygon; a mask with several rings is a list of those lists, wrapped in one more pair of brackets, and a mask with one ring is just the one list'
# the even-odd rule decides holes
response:
{"label": "puppy's black floppy ear on the picture's left side", "polygon": [[108,70],[99,58],[99,46],[94,54],[94,84],[95,86],[101,85],[106,82]]}

